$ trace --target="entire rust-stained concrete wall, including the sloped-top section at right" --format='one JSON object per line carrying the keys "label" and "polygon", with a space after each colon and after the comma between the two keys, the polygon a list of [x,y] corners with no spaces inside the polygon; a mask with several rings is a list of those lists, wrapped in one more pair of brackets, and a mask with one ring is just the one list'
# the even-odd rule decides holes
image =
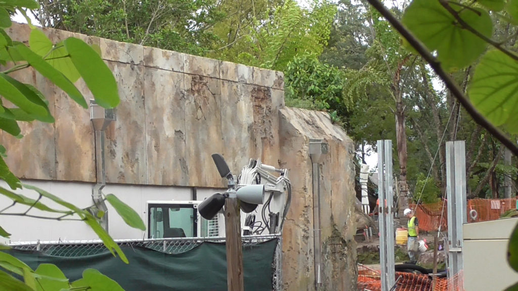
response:
{"label": "entire rust-stained concrete wall, including the sloped-top section at right", "polygon": [[[107,191],[122,200],[151,200],[147,188],[153,185],[222,187],[212,153],[222,153],[234,172],[249,158],[289,169],[293,198],[283,231],[286,290],[315,289],[308,145],[310,138],[325,139],[329,154],[320,177],[322,289],[356,289],[353,142],[326,113],[284,107],[281,72],[68,32],[44,32],[54,42],[75,36],[98,45],[118,80],[121,104],[117,121],[107,129],[106,166],[108,183],[117,184],[107,186]],[[8,33],[25,41],[30,30],[14,24]],[[16,74],[49,98],[56,122],[23,124],[21,140],[2,135],[13,172],[25,179],[91,185],[95,162],[88,110],[37,72]],[[90,97],[81,80],[76,85]],[[80,194],[87,197],[81,196],[85,202],[90,193]]]}

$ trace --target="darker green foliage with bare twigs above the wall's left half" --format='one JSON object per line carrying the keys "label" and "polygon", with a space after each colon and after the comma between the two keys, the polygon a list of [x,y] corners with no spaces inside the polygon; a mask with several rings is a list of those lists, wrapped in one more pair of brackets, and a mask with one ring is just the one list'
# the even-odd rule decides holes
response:
{"label": "darker green foliage with bare twigs above the wall's left half", "polygon": [[44,2],[35,11],[47,27],[191,54],[218,40],[210,28],[224,14],[215,0],[81,0]]}

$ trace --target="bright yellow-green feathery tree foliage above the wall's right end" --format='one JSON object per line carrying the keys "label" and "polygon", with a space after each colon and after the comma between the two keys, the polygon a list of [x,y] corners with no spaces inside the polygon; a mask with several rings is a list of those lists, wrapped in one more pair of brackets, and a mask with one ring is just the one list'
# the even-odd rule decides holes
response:
{"label": "bright yellow-green feathery tree foliage above the wall's right end", "polygon": [[243,37],[221,52],[208,54],[231,62],[285,71],[297,55],[320,55],[327,44],[336,6],[315,1],[311,9],[294,0],[270,7],[271,17],[250,26]]}

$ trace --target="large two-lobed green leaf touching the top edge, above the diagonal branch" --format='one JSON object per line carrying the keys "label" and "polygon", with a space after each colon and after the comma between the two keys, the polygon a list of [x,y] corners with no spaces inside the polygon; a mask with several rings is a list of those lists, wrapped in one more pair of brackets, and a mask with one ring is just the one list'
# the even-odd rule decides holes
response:
{"label": "large two-lobed green leaf touching the top edge, above the diagonal branch", "polygon": [[[482,35],[491,37],[493,22],[487,11],[449,5],[458,11],[461,19],[468,25]],[[471,64],[487,46],[484,40],[459,25],[439,0],[413,0],[405,11],[402,22],[430,51],[437,51],[438,60],[447,70]]]}

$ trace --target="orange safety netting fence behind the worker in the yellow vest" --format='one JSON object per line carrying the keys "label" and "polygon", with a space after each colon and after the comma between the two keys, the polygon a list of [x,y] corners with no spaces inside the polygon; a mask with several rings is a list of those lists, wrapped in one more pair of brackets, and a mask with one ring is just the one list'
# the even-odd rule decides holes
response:
{"label": "orange safety netting fence behind the worker in the yellow vest", "polygon": [[[419,219],[419,228],[424,231],[441,231],[448,229],[448,200],[436,203],[420,204],[415,209],[415,216]],[[516,209],[516,198],[510,199],[469,199],[466,205],[468,223],[497,220],[508,210]],[[477,218],[471,219],[471,210],[476,211]],[[474,212],[473,212],[474,213]]]}

